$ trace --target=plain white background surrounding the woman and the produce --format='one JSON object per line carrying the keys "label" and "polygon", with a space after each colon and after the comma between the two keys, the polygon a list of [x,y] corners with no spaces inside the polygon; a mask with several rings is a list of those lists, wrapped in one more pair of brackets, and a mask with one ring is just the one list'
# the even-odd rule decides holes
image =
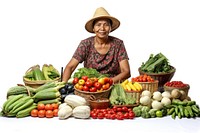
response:
{"label": "plain white background surrounding the woman and the produce", "polygon": [[[22,77],[29,67],[36,64],[42,66],[45,63],[53,64],[58,70],[65,67],[79,42],[93,35],[88,33],[84,26],[86,21],[93,16],[95,9],[100,6],[105,7],[110,15],[121,21],[120,27],[110,35],[124,40],[130,58],[132,77],[139,75],[138,67],[148,59],[151,53],[161,52],[176,68],[172,80],[190,84],[189,96],[200,104],[200,1],[1,0],[0,106],[6,100],[6,92],[10,87],[19,83],[23,84]],[[79,65],[79,67],[81,66]],[[8,128],[9,123],[15,121],[12,120],[3,119]],[[160,123],[159,120],[156,124]],[[166,125],[173,126],[175,121],[171,118],[167,120],[171,124],[166,123]],[[15,124],[20,121],[16,121]],[[150,124],[146,125],[146,128],[153,127],[150,120],[138,120],[138,122],[145,121]],[[190,131],[189,127],[182,126],[181,120],[177,121],[180,122],[176,122],[176,124],[181,132]],[[187,123],[187,120],[185,121]],[[75,122],[77,121],[72,120],[73,124]],[[47,122],[45,121],[45,123]],[[124,127],[126,123],[132,125],[131,122],[119,123]],[[137,120],[134,123],[138,125]],[[81,121],[80,124],[82,125],[78,125],[84,126]],[[104,128],[103,122],[101,124]],[[86,125],[89,126],[89,124]],[[67,128],[67,125],[65,127]],[[75,130],[81,131],[81,128],[74,127]],[[95,124],[94,127],[98,129],[98,124]],[[109,127],[112,126],[108,125],[107,128]],[[116,127],[113,127],[112,130],[119,131],[119,127]],[[54,128],[51,127],[51,129]],[[143,128],[137,129],[142,131]],[[174,127],[168,131],[176,129],[177,127]],[[12,129],[10,130],[12,131]],[[105,131],[105,129],[102,130]],[[23,130],[15,127],[13,131],[22,132]],[[150,131],[153,132],[153,130]]]}

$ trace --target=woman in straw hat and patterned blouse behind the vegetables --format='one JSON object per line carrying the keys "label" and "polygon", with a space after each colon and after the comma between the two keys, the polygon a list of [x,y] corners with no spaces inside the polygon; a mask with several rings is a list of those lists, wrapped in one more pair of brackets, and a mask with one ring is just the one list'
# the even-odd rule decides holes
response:
{"label": "woman in straw hat and patterned blouse behind the vegetables", "polygon": [[67,82],[79,63],[86,68],[94,68],[102,74],[109,74],[113,82],[128,79],[129,58],[122,40],[109,36],[117,29],[120,21],[103,8],[97,8],[94,16],[85,24],[85,29],[95,36],[82,40],[72,59],[66,65],[63,81]]}

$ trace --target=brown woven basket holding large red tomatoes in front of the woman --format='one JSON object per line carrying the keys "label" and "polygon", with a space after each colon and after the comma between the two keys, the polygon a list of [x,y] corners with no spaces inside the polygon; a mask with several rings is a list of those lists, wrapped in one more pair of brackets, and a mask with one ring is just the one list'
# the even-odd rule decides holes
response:
{"label": "brown woven basket holding large red tomatoes in front of the woman", "polygon": [[85,98],[85,100],[89,104],[90,100],[91,100],[91,97],[93,99],[109,98],[110,92],[111,92],[111,88],[112,87],[110,87],[108,90],[101,91],[101,92],[87,92],[87,91],[81,91],[81,90],[78,90],[78,89],[75,88],[74,89],[74,94]]}

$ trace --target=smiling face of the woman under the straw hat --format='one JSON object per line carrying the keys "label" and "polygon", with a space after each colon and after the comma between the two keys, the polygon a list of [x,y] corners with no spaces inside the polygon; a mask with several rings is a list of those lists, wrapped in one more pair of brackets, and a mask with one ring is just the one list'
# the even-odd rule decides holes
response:
{"label": "smiling face of the woman under the straw hat", "polygon": [[111,31],[109,19],[98,19],[94,23],[93,31],[99,38],[107,37]]}

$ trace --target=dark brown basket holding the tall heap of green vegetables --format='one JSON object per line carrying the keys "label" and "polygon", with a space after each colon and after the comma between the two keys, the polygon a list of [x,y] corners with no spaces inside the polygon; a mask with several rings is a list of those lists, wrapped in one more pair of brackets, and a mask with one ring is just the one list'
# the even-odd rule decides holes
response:
{"label": "dark brown basket holding the tall heap of green vegetables", "polygon": [[172,79],[172,77],[174,76],[174,73],[176,72],[176,68],[174,68],[173,66],[171,66],[171,68],[173,69],[172,72],[170,73],[146,73],[140,70],[140,68],[138,68],[138,71],[140,73],[140,75],[149,75],[151,76],[153,79],[158,80],[158,91],[163,92],[164,91],[164,84],[168,81],[170,81]]}

